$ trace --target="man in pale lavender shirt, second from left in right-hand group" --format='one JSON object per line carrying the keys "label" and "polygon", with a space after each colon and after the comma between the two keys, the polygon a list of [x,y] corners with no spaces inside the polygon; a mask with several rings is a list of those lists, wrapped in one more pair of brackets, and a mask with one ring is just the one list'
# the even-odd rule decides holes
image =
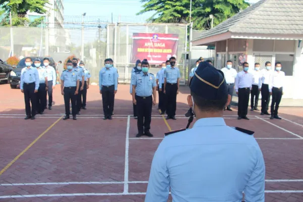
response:
{"label": "man in pale lavender shirt, second from left in right-hand group", "polygon": [[239,72],[236,76],[235,90],[238,95],[238,120],[247,118],[247,108],[249,102],[249,94],[252,88],[252,81],[254,76],[248,73],[249,65],[244,62],[243,71]]}

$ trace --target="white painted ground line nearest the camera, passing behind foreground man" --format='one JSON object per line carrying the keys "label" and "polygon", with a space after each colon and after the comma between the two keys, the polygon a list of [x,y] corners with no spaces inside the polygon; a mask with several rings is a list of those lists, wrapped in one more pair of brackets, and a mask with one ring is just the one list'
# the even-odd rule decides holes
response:
{"label": "white painted ground line nearest the camera, passing behind foreground man", "polygon": [[[265,190],[265,193],[303,193],[303,190]],[[31,195],[4,195],[0,198],[33,198],[33,197],[60,197],[60,196],[116,196],[116,195],[145,195],[146,192],[129,193],[55,193],[55,194],[31,194]]]}

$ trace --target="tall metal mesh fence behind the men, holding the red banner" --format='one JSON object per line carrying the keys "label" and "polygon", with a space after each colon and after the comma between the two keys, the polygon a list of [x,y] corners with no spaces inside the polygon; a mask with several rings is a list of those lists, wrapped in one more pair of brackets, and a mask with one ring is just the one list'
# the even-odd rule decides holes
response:
{"label": "tall metal mesh fence behind the men, holding the red banner", "polygon": [[[83,27],[66,25],[65,28],[0,27],[0,58],[6,60],[10,55],[48,56],[53,57],[56,62],[64,62],[67,57],[75,55],[81,59],[83,34],[83,61],[92,75],[92,82],[98,81],[98,73],[104,66],[104,60],[112,58],[114,66],[118,68],[119,82],[128,83],[131,69],[135,65],[130,63],[133,33],[178,34],[177,66],[181,73],[180,84],[185,83],[186,24],[108,23],[98,26],[95,23],[85,23]],[[151,65],[150,72],[156,74],[157,71],[158,65]]]}

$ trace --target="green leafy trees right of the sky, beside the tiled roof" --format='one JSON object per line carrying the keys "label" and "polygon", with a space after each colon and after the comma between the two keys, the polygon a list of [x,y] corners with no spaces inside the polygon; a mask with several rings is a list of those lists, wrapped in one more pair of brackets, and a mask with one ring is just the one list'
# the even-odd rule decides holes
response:
{"label": "green leafy trees right of the sky, beside the tiled roof", "polygon": [[[188,23],[190,0],[141,0],[143,9],[137,13],[155,12],[148,22]],[[194,29],[210,29],[210,15],[214,26],[247,8],[244,0],[192,0],[191,20]]]}

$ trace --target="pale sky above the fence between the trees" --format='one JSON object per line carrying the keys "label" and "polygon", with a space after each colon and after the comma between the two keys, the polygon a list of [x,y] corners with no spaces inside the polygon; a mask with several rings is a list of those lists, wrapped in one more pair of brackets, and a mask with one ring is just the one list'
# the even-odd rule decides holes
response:
{"label": "pale sky above the fence between the trees", "polygon": [[[256,3],[259,0],[249,0],[249,3]],[[84,21],[111,22],[144,22],[153,15],[148,12],[139,16],[136,13],[142,9],[140,0],[64,0],[65,21],[80,21],[81,15],[86,13]],[[68,17],[77,16],[77,17]]]}

